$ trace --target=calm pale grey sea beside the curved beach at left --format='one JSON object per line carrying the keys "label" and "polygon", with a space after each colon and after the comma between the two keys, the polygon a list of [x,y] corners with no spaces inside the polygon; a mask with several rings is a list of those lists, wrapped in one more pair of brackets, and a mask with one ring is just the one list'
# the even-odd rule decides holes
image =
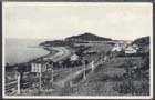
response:
{"label": "calm pale grey sea beside the curved beach at left", "polygon": [[43,39],[6,39],[4,62],[9,64],[28,62],[34,58],[48,54],[49,51],[37,47]]}

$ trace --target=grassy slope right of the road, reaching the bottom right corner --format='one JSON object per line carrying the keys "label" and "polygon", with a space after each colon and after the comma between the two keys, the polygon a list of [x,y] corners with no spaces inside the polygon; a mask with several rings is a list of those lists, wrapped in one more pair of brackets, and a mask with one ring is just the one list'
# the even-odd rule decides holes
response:
{"label": "grassy slope right of the road, reaching the bottom right corner", "polygon": [[[149,80],[147,70],[136,70],[130,74],[125,66],[143,66],[142,58],[115,58],[101,64],[83,84],[74,87],[74,96],[147,96]],[[130,63],[128,63],[130,62]],[[132,63],[131,63],[132,62]],[[122,66],[122,67],[120,67]],[[130,69],[130,67],[127,67]]]}

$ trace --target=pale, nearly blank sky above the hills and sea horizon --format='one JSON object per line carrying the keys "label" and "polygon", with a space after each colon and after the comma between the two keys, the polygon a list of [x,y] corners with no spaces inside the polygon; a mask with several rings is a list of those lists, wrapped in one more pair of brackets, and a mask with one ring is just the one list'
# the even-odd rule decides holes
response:
{"label": "pale, nearly blank sky above the hills and sea horizon", "polygon": [[153,30],[151,3],[4,2],[4,38],[64,39],[91,32],[134,40]]}

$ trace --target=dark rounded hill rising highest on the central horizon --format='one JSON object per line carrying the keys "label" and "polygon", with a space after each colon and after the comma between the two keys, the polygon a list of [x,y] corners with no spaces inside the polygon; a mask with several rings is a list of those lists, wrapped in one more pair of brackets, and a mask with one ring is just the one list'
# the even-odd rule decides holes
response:
{"label": "dark rounded hill rising highest on the central horizon", "polygon": [[79,40],[79,41],[111,41],[112,39],[99,37],[99,36],[92,34],[92,33],[90,33],[90,32],[85,32],[85,33],[80,34],[80,36],[72,36],[72,37],[65,38],[65,40]]}

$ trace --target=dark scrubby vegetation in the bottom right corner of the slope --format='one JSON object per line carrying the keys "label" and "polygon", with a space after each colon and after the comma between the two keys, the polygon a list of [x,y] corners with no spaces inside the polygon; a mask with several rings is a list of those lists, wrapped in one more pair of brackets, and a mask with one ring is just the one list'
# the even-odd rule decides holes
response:
{"label": "dark scrubby vegetation in the bottom right corner of the slope", "polygon": [[[113,89],[121,94],[148,96],[149,94],[149,71],[143,69],[146,66],[145,59],[140,61],[126,60],[125,69],[127,72],[122,76],[121,83],[116,83]],[[137,69],[132,69],[137,66]]]}

